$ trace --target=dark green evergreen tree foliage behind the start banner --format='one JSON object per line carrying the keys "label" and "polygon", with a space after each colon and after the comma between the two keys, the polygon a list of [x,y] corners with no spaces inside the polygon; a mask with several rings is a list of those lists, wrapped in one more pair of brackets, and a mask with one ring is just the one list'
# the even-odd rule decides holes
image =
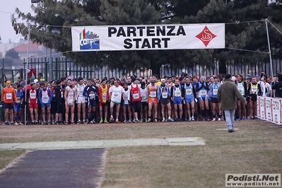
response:
{"label": "dark green evergreen tree foliage behind the start banner", "polygon": [[[42,0],[32,6],[35,16],[16,10],[12,25],[16,33],[27,37],[27,25],[17,23],[23,18],[31,23],[31,40],[65,52],[83,66],[109,66],[122,71],[152,69],[159,74],[163,64],[170,69],[184,66],[225,64],[256,64],[269,61],[268,54],[237,49],[268,52],[265,20],[278,30],[282,28],[281,0]],[[254,21],[256,20],[256,21]],[[176,23],[226,23],[225,49],[177,49],[117,52],[70,52],[71,28],[79,25],[156,25]],[[271,52],[281,58],[281,33],[269,25]]]}

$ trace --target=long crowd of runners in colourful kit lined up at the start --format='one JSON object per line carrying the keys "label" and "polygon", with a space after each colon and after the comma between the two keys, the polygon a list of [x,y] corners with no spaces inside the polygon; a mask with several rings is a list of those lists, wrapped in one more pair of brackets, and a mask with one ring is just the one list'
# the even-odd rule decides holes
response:
{"label": "long crowd of runners in colourful kit lined up at the start", "polygon": [[[281,75],[280,75],[281,76]],[[257,118],[257,96],[280,98],[282,78],[261,75],[234,75],[231,78],[247,105],[237,101],[236,119]],[[8,124],[95,124],[109,122],[221,121],[224,114],[217,90],[224,82],[218,76],[165,76],[158,78],[61,77],[11,83],[1,92]],[[26,107],[26,112],[24,108]],[[26,122],[23,117],[25,116]]]}

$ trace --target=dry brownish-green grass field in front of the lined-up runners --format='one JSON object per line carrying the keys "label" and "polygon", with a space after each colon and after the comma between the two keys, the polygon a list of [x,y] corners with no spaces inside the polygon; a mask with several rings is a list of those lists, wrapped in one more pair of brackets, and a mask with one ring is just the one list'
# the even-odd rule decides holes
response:
{"label": "dry brownish-green grass field in front of the lined-up runners", "polygon": [[[257,120],[0,127],[0,143],[201,137],[204,146],[109,148],[102,187],[225,187],[226,173],[282,172],[282,129]],[[0,151],[0,168],[25,151]]]}

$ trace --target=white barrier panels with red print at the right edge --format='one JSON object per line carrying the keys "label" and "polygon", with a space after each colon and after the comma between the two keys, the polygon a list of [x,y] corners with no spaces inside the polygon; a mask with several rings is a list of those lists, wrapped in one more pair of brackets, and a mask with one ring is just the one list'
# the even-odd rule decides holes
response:
{"label": "white barrier panels with red print at the right edge", "polygon": [[258,96],[257,117],[274,124],[282,124],[282,99]]}

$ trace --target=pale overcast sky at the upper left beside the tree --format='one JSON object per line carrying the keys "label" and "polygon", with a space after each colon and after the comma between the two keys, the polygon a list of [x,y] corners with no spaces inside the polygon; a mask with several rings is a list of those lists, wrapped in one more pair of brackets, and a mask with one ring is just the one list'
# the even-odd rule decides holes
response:
{"label": "pale overcast sky at the upper left beside the tree", "polygon": [[[32,13],[33,10],[30,8],[31,0],[0,0],[0,36],[2,43],[19,42],[22,35],[16,35],[11,24],[11,14],[15,13],[16,8],[24,13]],[[21,23],[22,21],[20,21]]]}

